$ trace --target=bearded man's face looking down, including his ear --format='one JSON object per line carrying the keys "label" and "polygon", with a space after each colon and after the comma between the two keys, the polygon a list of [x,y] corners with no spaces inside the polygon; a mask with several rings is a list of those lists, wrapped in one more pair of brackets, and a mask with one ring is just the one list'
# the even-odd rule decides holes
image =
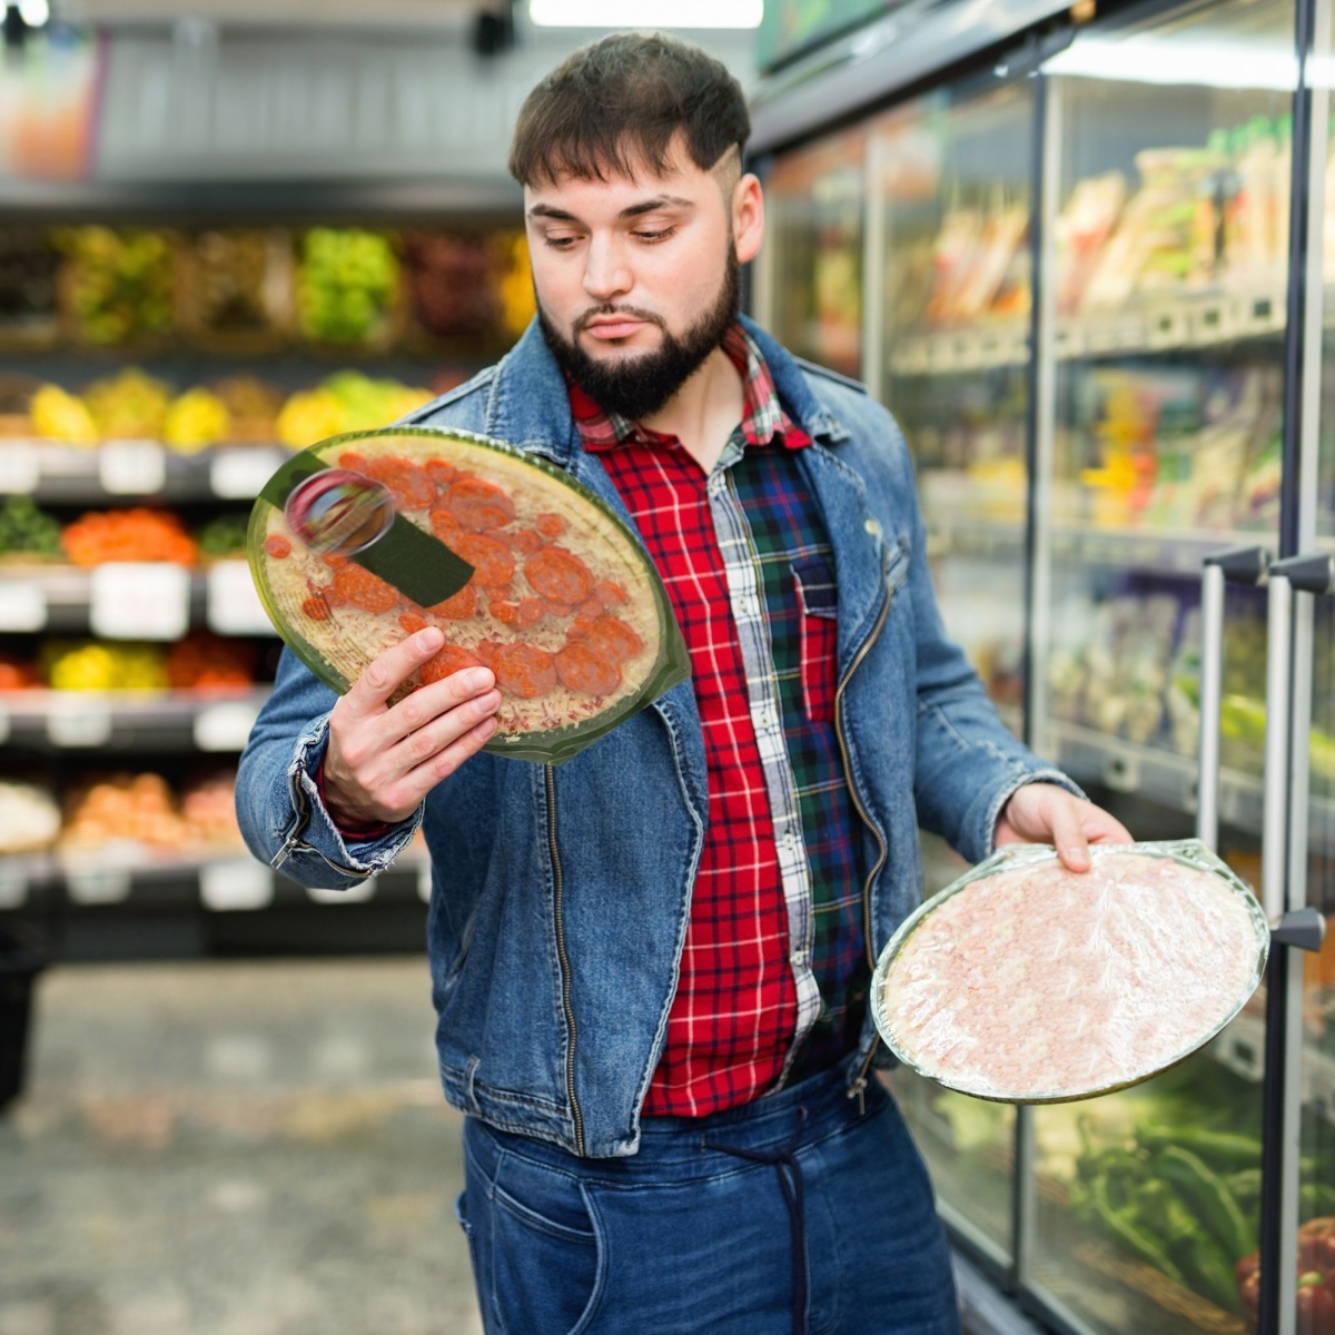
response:
{"label": "bearded man's face looking down, including his ear", "polygon": [[760,187],[736,166],[562,178],[525,190],[538,316],[553,354],[602,407],[661,409],[737,315],[760,246]]}

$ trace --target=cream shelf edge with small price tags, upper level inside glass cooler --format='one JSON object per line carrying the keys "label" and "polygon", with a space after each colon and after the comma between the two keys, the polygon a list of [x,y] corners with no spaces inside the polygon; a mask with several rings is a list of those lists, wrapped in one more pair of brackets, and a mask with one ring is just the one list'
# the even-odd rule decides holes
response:
{"label": "cream shelf edge with small price tags, upper level inside glass cooler", "polygon": [[[1282,288],[1258,292],[1200,292],[1145,303],[1132,311],[1059,319],[1057,360],[1212,347],[1267,338],[1284,328]],[[1029,360],[1028,326],[979,324],[909,335],[892,344],[896,375],[957,375]]]}

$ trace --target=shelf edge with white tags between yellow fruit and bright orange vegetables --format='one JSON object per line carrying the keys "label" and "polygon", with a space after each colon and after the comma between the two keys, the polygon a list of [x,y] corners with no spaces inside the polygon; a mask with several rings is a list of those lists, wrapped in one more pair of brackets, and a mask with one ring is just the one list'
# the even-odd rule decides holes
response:
{"label": "shelf edge with white tags between yellow fruit and bright orange vegetables", "polygon": [[279,445],[178,454],[156,441],[96,447],[0,439],[0,494],[48,505],[154,501],[252,501],[288,451]]}

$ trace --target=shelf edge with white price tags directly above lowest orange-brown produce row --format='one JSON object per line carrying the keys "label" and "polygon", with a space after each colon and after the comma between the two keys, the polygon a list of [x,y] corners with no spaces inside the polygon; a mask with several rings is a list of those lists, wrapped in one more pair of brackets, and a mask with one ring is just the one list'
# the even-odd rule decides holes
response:
{"label": "shelf edge with white price tags directly above lowest orange-brown produce row", "polygon": [[0,741],[37,752],[236,753],[268,692],[73,692],[0,694]]}

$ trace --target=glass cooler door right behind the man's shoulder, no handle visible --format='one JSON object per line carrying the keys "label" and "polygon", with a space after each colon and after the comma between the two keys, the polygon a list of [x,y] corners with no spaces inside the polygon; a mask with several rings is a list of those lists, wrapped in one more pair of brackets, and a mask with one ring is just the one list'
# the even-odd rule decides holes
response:
{"label": "glass cooler door right behind the man's shoulder, no handle visible", "polygon": [[[941,613],[1005,722],[1023,717],[1033,85],[971,80],[869,127],[866,375],[917,469]],[[926,892],[964,864],[924,834]],[[941,1212],[1013,1252],[1015,1109],[897,1071]]]}

